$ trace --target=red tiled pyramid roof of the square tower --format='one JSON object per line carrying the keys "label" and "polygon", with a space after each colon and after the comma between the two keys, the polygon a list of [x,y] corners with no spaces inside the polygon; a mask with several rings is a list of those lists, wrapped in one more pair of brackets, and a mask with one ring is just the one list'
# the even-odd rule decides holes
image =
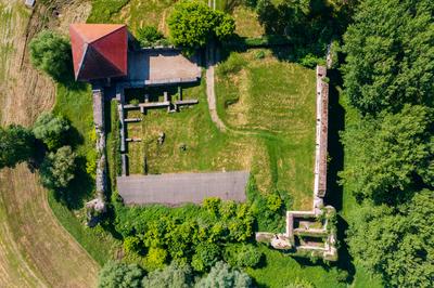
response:
{"label": "red tiled pyramid roof of the square tower", "polygon": [[77,80],[127,75],[127,27],[119,24],[69,26],[74,71]]}

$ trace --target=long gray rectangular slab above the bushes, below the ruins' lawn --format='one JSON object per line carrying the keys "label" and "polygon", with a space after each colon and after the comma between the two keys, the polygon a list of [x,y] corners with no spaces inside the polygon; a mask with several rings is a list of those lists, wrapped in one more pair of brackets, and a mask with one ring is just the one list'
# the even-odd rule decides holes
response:
{"label": "long gray rectangular slab above the bushes, below the ruins' lawn", "polygon": [[201,204],[205,198],[245,201],[247,171],[174,173],[117,178],[117,189],[126,205]]}

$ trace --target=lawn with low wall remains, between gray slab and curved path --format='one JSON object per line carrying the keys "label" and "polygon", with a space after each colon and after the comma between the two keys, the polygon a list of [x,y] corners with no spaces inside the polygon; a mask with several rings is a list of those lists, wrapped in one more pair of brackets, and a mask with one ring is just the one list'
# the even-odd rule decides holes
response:
{"label": "lawn with low wall remains, between gray slab and curved path", "polygon": [[[204,83],[183,89],[183,99],[199,99],[199,104],[179,113],[150,109],[128,117],[141,117],[139,123],[128,125],[128,136],[142,142],[128,144],[130,173],[224,171],[248,169],[252,145],[248,139],[219,132],[210,120]],[[140,93],[140,91],[139,91]],[[144,92],[143,92],[144,93]],[[157,143],[165,133],[163,145]],[[186,150],[181,146],[186,146]]]}

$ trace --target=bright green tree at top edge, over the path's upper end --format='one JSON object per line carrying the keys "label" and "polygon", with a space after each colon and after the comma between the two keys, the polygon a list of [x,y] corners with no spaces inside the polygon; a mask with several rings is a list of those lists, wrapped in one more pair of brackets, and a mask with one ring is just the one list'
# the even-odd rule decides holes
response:
{"label": "bright green tree at top edge, over the path's upper end", "polygon": [[213,38],[224,40],[235,29],[231,16],[213,11],[203,2],[189,0],[175,5],[168,26],[171,42],[188,49],[204,47]]}

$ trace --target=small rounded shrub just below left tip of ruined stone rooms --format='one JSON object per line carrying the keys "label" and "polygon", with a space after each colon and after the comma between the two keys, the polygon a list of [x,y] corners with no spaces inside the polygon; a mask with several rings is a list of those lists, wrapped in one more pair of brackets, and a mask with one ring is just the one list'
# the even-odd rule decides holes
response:
{"label": "small rounded shrub just below left tip of ruined stone rooms", "polygon": [[225,261],[233,267],[255,267],[263,253],[251,244],[229,245],[225,248]]}

